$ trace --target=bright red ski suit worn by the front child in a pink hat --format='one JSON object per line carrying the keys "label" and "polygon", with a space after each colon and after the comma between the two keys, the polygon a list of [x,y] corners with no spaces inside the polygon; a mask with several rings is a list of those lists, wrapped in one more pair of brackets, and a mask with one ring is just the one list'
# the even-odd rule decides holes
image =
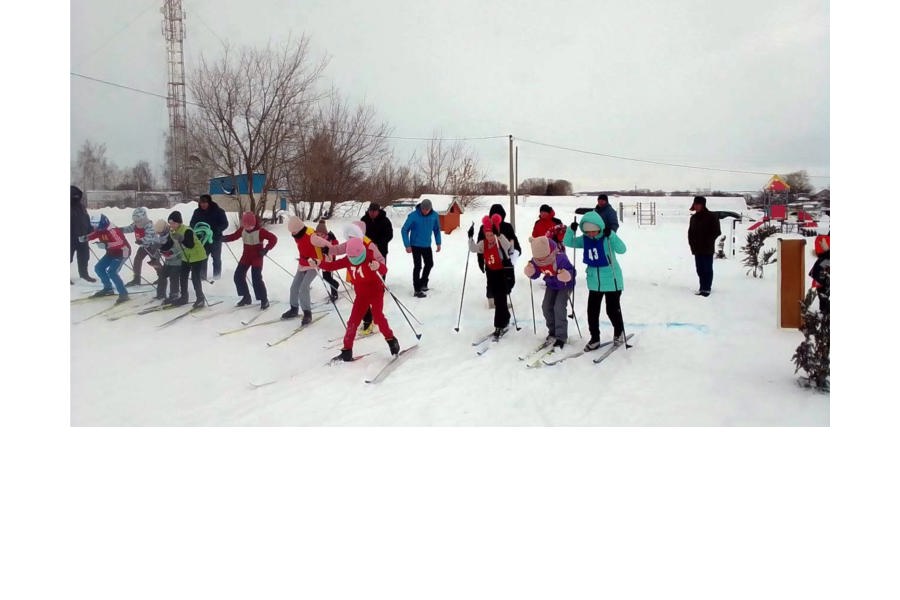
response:
{"label": "bright red ski suit worn by the front child in a pink hat", "polygon": [[354,265],[346,256],[319,265],[323,271],[347,269],[347,279],[353,284],[356,292],[356,299],[353,300],[353,308],[350,309],[350,317],[347,319],[347,332],[344,334],[345,350],[353,349],[356,328],[359,327],[369,307],[372,308],[372,321],[378,325],[378,330],[381,331],[384,339],[394,337],[391,326],[384,318],[384,285],[370,266],[373,261],[378,263],[378,274],[382,278],[387,275],[387,266],[384,262],[375,259],[372,248],[366,248],[366,260],[360,265]]}

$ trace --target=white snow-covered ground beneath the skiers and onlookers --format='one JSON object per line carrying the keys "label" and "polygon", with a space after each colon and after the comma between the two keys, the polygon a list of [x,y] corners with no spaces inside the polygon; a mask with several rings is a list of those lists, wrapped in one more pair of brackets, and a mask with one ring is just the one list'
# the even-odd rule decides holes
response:
{"label": "white snow-covered ground beneath the skiers and onlookers", "polygon": [[[634,347],[620,349],[600,365],[585,354],[560,365],[526,369],[518,356],[546,335],[540,312],[543,286],[521,273],[530,257],[527,238],[538,207],[551,204],[564,223],[574,209],[593,206],[592,197],[520,198],[516,207],[517,232],[525,256],[517,265],[512,294],[518,326],[483,356],[476,356],[472,341],[492,328],[492,310],[485,300],[485,278],[474,255],[468,255],[465,229],[478,222],[494,202],[503,203],[509,220],[508,197],[483,198],[478,207],[462,215],[462,227],[444,234],[441,252],[435,253],[427,298],[412,296],[412,258],[404,252],[400,227],[403,210],[391,211],[394,240],[388,255],[387,283],[397,299],[409,308],[421,334],[419,348],[410,353],[384,381],[366,384],[364,379],[388,360],[380,335],[358,340],[355,354],[371,352],[362,360],[327,366],[339,345],[326,348],[343,334],[341,319],[330,304],[314,307],[327,316],[285,343],[268,347],[295,327],[299,320],[284,321],[221,336],[240,327],[241,321],[259,311],[251,308],[228,312],[238,300],[232,275],[241,242],[222,250],[222,279],[204,285],[207,298],[222,304],[160,328],[174,311],[108,320],[90,319],[112,300],[73,303],[71,314],[71,424],[75,426],[827,426],[828,394],[797,385],[791,361],[802,341],[799,331],[780,329],[776,323],[775,265],[763,279],[745,274],[740,246],[745,240],[745,219],[736,226],[737,253],[715,261],[713,294],[694,295],[697,277],[687,245],[690,199],[610,198],[630,206],[636,200],[657,203],[656,225],[639,226],[631,208],[620,215],[619,235],[628,246],[620,257],[625,292],[622,311],[627,333],[635,334]],[[750,215],[742,199],[710,198],[710,210],[737,210]],[[195,203],[173,209],[152,209],[150,217],[165,219],[181,210],[190,220]],[[92,216],[101,211],[89,211]],[[128,225],[131,209],[104,209],[117,226]],[[237,215],[229,213],[233,231]],[[753,216],[758,214],[753,213]],[[343,241],[349,219],[329,221]],[[731,221],[722,221],[730,233]],[[260,319],[279,316],[287,308],[288,290],[297,249],[286,225],[269,229],[278,245],[269,254],[264,278],[272,301]],[[129,234],[133,241],[133,236]],[[769,240],[770,243],[772,240]],[[93,246],[92,246],[93,247]],[[229,251],[229,248],[231,251]],[[96,256],[102,251],[95,249]],[[233,254],[232,254],[233,253]],[[571,250],[569,250],[571,257]],[[812,265],[807,254],[806,270]],[[457,326],[463,277],[468,276]],[[91,269],[96,257],[91,257]],[[586,342],[587,290],[580,256],[574,320],[569,321],[568,349]],[[288,272],[290,271],[290,273]],[[211,272],[211,265],[210,265]],[[99,289],[77,278],[72,298]],[[155,279],[144,265],[143,273]],[[123,280],[131,277],[127,267]],[[142,289],[150,289],[149,287]],[[313,301],[325,299],[321,280],[312,286]],[[534,298],[535,322],[532,319]],[[142,303],[152,294],[136,294]],[[193,301],[193,290],[191,300]],[[350,301],[342,294],[337,304],[343,318]],[[604,307],[605,311],[605,307]],[[124,312],[124,309],[123,309]],[[390,295],[385,314],[401,347],[417,342],[414,332]],[[257,321],[259,322],[259,321]],[[579,336],[578,328],[581,330]],[[601,312],[601,336],[612,329]],[[335,342],[337,343],[337,342]],[[331,344],[333,345],[333,344]],[[102,365],[102,367],[100,367]],[[99,376],[102,370],[102,376]],[[274,381],[262,387],[254,383]]]}

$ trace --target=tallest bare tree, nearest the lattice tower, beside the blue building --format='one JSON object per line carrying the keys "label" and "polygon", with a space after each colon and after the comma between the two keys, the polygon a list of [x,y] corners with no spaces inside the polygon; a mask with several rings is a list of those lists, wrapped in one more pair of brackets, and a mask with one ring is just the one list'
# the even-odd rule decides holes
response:
{"label": "tallest bare tree, nearest the lattice tower, beside the blue building", "polygon": [[313,86],[326,64],[324,58],[312,61],[309,39],[302,36],[280,48],[226,47],[216,62],[201,56],[190,78],[200,105],[189,119],[190,152],[230,175],[235,185],[238,175],[249,183],[254,173],[265,173],[263,201],[249,186],[249,209],[259,216],[268,190],[285,179],[288,153],[298,147],[300,128],[316,101]]}

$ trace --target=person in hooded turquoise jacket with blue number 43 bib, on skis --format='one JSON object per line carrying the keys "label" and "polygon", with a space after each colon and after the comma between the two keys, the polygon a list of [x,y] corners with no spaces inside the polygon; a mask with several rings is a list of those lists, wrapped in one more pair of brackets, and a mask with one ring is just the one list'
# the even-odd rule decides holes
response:
{"label": "person in hooded turquoise jacket with blue number 43 bib, on skis", "polygon": [[588,286],[588,330],[591,339],[584,347],[585,352],[600,347],[600,307],[606,297],[606,316],[613,326],[613,343],[625,342],[625,322],[622,319],[622,290],[625,281],[616,254],[625,254],[625,242],[615,231],[606,229],[603,218],[596,212],[588,212],[581,218],[583,236],[576,236],[577,221],[572,221],[566,233],[566,246],[582,248],[587,272]]}

